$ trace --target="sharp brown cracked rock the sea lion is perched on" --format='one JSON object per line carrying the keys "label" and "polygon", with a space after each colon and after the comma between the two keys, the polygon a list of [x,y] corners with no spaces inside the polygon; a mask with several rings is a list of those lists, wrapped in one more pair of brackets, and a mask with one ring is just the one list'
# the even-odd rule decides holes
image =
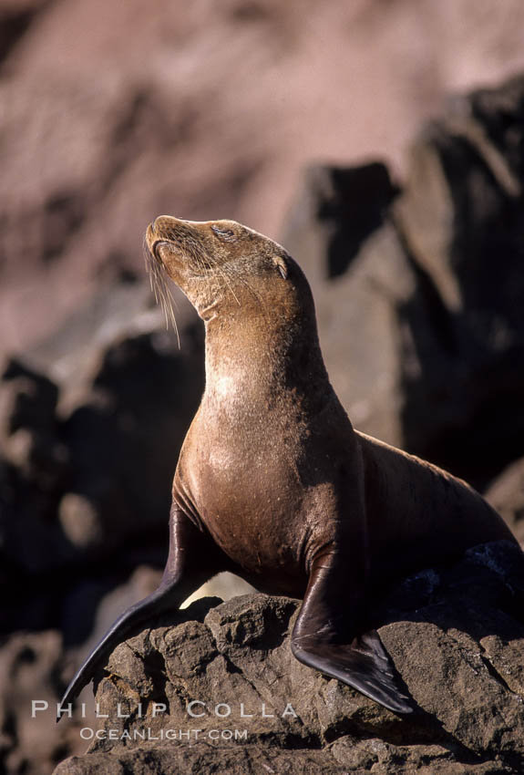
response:
{"label": "sharp brown cracked rock the sea lion is perched on", "polygon": [[294,659],[297,601],[200,600],[180,624],[160,619],[115,649],[97,689],[109,718],[55,771],[518,771],[523,597],[522,554],[495,542],[377,599],[379,634],[418,706],[410,717]]}

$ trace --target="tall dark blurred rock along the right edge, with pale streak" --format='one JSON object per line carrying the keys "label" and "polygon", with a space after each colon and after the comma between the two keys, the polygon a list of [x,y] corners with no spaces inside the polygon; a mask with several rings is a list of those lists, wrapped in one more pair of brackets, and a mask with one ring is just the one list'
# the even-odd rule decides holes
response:
{"label": "tall dark blurred rock along the right edge, with pale streak", "polygon": [[404,443],[477,486],[524,430],[523,109],[521,77],[452,100],[415,143],[395,209],[417,281],[398,310]]}

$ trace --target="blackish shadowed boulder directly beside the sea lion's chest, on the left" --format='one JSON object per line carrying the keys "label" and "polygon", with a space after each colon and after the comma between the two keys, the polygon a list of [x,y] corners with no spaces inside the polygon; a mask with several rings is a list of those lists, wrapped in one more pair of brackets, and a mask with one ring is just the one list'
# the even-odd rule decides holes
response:
{"label": "blackish shadowed boulder directly beside the sea lion's chest, on the left", "polygon": [[63,422],[67,491],[97,512],[98,552],[166,525],[180,446],[203,389],[200,328],[191,338],[183,353],[158,331],[113,342]]}

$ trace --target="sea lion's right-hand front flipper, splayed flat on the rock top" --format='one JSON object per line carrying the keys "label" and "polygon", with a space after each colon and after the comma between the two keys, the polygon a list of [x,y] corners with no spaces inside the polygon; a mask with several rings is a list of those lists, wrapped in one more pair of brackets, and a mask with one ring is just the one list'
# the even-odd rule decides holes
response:
{"label": "sea lion's right-hand front flipper, splayed flat on the rock top", "polygon": [[[341,558],[313,563],[303,606],[292,635],[293,655],[325,676],[337,678],[396,713],[412,713],[414,703],[401,689],[391,658],[375,630],[355,635],[358,596],[347,587]],[[345,574],[348,575],[347,564]]]}

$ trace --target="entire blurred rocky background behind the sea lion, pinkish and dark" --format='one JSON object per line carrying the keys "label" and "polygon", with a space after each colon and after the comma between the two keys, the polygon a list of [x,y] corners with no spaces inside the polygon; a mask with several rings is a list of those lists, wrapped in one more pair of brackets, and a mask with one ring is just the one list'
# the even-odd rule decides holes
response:
{"label": "entire blurred rocky background behind the sea lion, pinkish and dark", "polygon": [[203,336],[153,304],[161,212],[282,241],[354,425],[524,540],[523,35],[519,0],[0,2],[6,771],[86,748],[30,700],[164,561]]}

